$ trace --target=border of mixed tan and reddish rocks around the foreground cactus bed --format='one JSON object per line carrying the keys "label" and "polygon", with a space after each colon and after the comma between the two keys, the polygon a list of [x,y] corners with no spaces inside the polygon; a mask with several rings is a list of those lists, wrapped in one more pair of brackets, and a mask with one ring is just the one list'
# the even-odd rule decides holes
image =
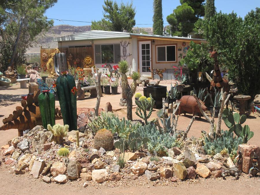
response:
{"label": "border of mixed tan and reddish rocks around the foreground cactus bed", "polygon": [[[93,138],[79,134],[79,144],[76,146],[75,131],[68,132],[63,145],[52,141],[51,132],[42,126],[36,126],[23,137],[16,137],[5,146],[1,147],[2,161],[13,169],[16,174],[29,173],[34,178],[50,183],[66,183],[69,180],[83,180],[84,187],[88,182],[108,183],[124,179],[147,178],[150,181],[177,182],[187,179],[221,177],[226,169],[235,166],[230,157],[223,157],[220,153],[210,156],[205,155],[203,147],[187,142],[185,149],[177,147],[168,150],[167,157],[158,161],[151,161],[151,155],[146,150],[142,152],[125,152],[125,166],[120,168],[117,164],[118,149],[105,151],[104,148],[96,150]],[[61,147],[69,149],[67,157],[60,157],[57,151]],[[253,146],[252,146],[253,147]],[[248,151],[252,152],[250,145],[241,145],[243,150],[244,166]],[[254,151],[260,147],[254,146]]]}

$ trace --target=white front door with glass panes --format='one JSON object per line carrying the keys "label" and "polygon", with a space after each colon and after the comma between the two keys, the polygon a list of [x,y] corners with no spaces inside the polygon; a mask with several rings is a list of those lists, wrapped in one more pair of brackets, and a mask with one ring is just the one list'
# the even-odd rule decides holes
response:
{"label": "white front door with glass panes", "polygon": [[151,77],[151,41],[139,42],[139,70],[141,77]]}

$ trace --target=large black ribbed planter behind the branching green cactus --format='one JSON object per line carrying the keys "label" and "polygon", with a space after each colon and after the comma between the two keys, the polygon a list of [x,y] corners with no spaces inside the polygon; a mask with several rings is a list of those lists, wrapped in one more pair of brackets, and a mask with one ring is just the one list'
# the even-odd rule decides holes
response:
{"label": "large black ribbed planter behind the branching green cactus", "polygon": [[150,94],[152,95],[153,99],[155,100],[153,108],[156,109],[162,108],[162,99],[166,99],[166,92],[167,87],[161,85],[147,86],[144,88],[144,96],[149,97]]}

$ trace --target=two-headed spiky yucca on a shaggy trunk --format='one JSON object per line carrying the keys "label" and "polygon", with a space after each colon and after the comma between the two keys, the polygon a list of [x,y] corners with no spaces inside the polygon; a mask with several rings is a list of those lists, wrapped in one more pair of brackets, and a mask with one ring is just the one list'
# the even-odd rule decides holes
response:
{"label": "two-headed spiky yucca on a shaggy trunk", "polygon": [[[140,73],[138,72],[132,72],[130,77],[133,79],[133,83],[131,83],[131,86],[128,83],[127,80],[127,73],[129,72],[129,65],[126,60],[121,60],[118,62],[119,66],[119,73],[121,74],[121,88],[122,88],[122,99],[127,100],[127,119],[132,120],[132,108],[133,108],[133,95],[136,91],[137,86],[137,80],[140,79]],[[120,100],[120,101],[121,101]]]}

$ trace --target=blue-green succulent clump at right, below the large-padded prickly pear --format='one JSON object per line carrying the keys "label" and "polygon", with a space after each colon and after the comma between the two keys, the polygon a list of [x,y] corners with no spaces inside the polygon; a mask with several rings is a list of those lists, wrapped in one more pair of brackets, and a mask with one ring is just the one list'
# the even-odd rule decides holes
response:
{"label": "blue-green succulent clump at right, below the large-padded prickly pear", "polygon": [[234,137],[233,132],[221,130],[222,136],[211,142],[205,137],[204,150],[209,155],[215,155],[216,153],[228,152],[231,158],[237,154],[237,148],[239,144],[242,144],[242,138]]}

